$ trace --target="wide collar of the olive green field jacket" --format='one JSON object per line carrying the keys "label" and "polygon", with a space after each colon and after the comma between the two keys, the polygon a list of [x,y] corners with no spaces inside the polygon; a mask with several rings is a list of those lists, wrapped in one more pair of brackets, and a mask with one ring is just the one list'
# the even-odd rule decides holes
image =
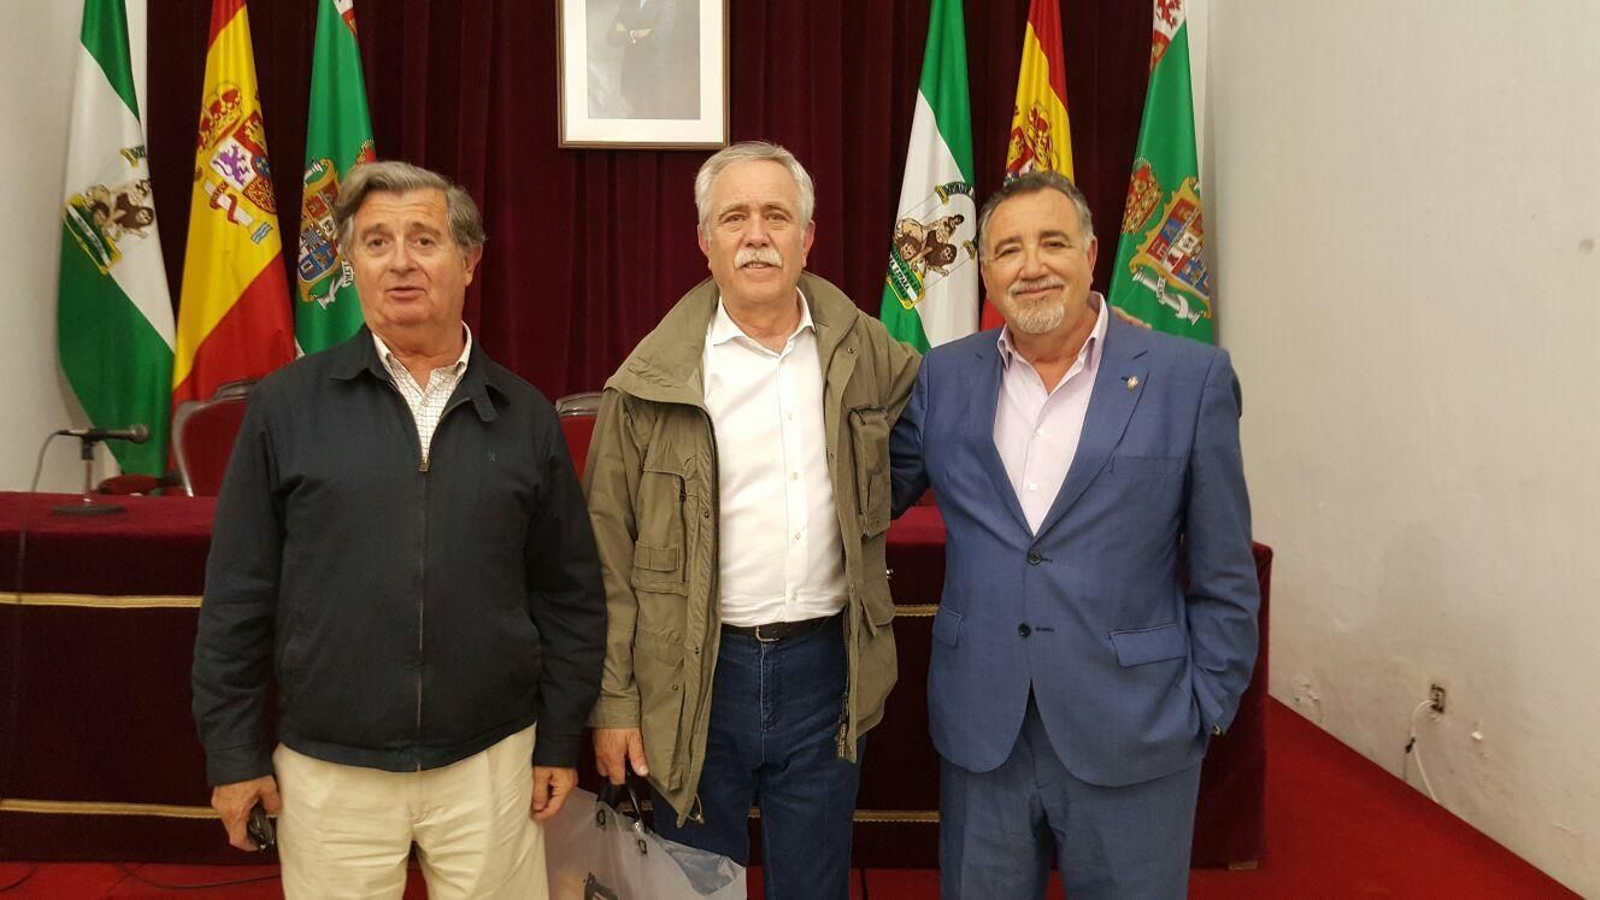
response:
{"label": "wide collar of the olive green field jacket", "polygon": [[[842,290],[811,272],[800,274],[800,293],[816,327],[818,359],[827,372],[834,351],[854,328],[856,304]],[[704,407],[701,360],[706,354],[706,328],[717,312],[718,296],[722,291],[710,279],[694,285],[667,311],[661,323],[645,335],[616,375],[606,380],[606,389],[632,394],[642,400]]]}

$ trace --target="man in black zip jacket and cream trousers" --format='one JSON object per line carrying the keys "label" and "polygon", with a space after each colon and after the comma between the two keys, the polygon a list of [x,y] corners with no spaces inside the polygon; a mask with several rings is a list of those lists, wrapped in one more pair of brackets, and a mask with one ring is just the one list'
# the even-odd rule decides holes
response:
{"label": "man in black zip jacket and cream trousers", "polygon": [[218,498],[211,806],[240,849],[280,817],[290,897],[400,897],[413,844],[432,897],[544,897],[605,657],[589,514],[555,410],[461,320],[472,199],[370,163],[334,221],[366,328],[256,386]]}

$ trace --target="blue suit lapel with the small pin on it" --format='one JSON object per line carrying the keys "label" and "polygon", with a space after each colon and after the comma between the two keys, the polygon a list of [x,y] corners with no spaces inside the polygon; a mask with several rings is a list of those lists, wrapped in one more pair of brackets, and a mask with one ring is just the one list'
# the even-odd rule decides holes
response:
{"label": "blue suit lapel with the small pin on it", "polygon": [[1067,509],[1083,496],[1090,482],[1106,468],[1112,450],[1122,440],[1122,432],[1126,431],[1128,420],[1133,418],[1133,408],[1144,394],[1149,375],[1149,365],[1141,359],[1144,341],[1139,336],[1131,325],[1118,322],[1115,315],[1107,322],[1104,356],[1099,373],[1094,376],[1090,408],[1083,416],[1078,452],[1072,456],[1072,466],[1067,469],[1067,479],[1061,484],[1061,493],[1056,495],[1050,512],[1038,525],[1040,535],[1054,527],[1067,514]]}

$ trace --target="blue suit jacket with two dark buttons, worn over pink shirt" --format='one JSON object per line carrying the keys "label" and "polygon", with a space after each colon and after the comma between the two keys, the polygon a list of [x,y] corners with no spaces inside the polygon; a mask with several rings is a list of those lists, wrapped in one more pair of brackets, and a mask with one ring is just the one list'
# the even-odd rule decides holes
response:
{"label": "blue suit jacket with two dark buttons, worn over pink shirt", "polygon": [[998,767],[1032,689],[1051,745],[1085,781],[1192,765],[1256,661],[1229,357],[1112,317],[1077,456],[1035,535],[994,444],[997,335],[933,349],[891,439],[896,514],[931,484],[949,530],[933,743],[963,769]]}

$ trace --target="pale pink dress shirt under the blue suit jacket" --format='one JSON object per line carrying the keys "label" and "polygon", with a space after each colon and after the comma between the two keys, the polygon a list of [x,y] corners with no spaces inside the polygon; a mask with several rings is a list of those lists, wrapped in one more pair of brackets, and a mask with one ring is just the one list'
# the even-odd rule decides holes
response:
{"label": "pale pink dress shirt under the blue suit jacket", "polygon": [[1034,533],[1038,533],[1050,506],[1061,493],[1061,482],[1067,480],[1067,469],[1078,453],[1078,439],[1083,437],[1090,394],[1094,392],[1107,312],[1101,295],[1091,293],[1090,303],[1099,307],[1094,328],[1067,373],[1050,391],[1034,365],[1011,346],[1011,327],[1000,328],[1003,373],[1000,405],[995,408],[995,448],[1000,450],[1011,490],[1016,492]]}

